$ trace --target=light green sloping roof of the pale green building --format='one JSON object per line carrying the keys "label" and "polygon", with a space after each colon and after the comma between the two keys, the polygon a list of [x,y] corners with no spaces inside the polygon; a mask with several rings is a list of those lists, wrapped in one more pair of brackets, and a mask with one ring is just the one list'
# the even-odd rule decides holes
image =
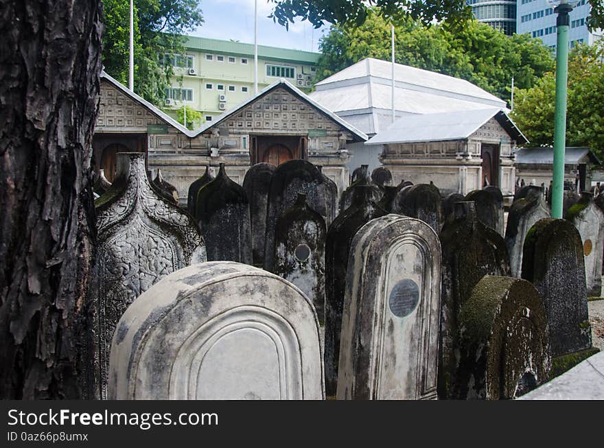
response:
{"label": "light green sloping roof of the pale green building", "polygon": [[[231,40],[209,39],[205,37],[187,36],[187,49],[209,51],[212,53],[244,54],[254,56],[254,45],[251,43],[233,42]],[[321,54],[312,51],[292,50],[287,48],[267,47],[258,45],[258,57],[291,62],[316,64]]]}

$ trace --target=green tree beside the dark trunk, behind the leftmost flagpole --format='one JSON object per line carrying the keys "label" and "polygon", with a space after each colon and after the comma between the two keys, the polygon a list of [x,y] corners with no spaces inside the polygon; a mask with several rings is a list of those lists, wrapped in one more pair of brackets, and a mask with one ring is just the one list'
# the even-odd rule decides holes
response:
{"label": "green tree beside the dark trunk, behind the leftmost flagpole", "polygon": [[[105,71],[122,84],[128,83],[130,1],[102,0],[103,64]],[[203,23],[198,0],[137,0],[135,9],[135,92],[154,104],[162,104],[165,88],[174,75],[163,54],[184,54],[183,34]]]}

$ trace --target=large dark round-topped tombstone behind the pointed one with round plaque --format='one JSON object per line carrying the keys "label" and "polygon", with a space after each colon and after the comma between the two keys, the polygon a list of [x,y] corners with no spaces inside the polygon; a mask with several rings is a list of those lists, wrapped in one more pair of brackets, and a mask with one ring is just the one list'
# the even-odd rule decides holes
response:
{"label": "large dark round-topped tombstone behind the pointed one with round plaque", "polygon": [[332,187],[325,176],[312,163],[292,160],[275,169],[268,192],[266,211],[266,241],[264,269],[272,272],[275,266],[275,224],[277,217],[292,207],[298,193],[305,193],[308,206],[323,216],[325,224],[332,222],[335,210],[330,209]]}

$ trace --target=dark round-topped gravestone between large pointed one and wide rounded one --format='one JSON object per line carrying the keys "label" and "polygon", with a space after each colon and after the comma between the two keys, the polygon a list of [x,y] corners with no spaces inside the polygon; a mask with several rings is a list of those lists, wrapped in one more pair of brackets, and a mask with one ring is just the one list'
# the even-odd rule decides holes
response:
{"label": "dark round-topped gravestone between large pointed one and wide rounded one", "polygon": [[266,208],[268,206],[268,189],[275,172],[275,165],[257,163],[245,175],[243,189],[250,202],[250,219],[252,226],[252,260],[254,266],[264,264],[264,240],[266,238]]}

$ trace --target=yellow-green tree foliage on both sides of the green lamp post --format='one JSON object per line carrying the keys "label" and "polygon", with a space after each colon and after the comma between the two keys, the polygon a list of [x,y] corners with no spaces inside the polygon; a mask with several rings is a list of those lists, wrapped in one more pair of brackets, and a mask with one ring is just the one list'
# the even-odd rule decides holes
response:
{"label": "yellow-green tree foliage on both sides of the green lamp post", "polygon": [[[604,157],[604,43],[579,45],[568,60],[566,145],[588,146]],[[515,91],[512,117],[531,145],[553,145],[555,73]]]}

